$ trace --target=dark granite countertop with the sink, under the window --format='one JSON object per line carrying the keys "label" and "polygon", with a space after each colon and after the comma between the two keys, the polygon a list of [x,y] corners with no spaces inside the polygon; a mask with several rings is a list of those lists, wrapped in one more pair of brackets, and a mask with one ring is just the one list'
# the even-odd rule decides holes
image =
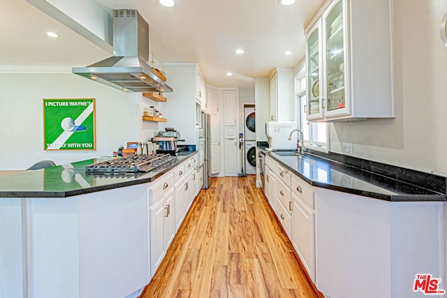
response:
{"label": "dark granite countertop with the sink, under the window", "polygon": [[287,151],[267,151],[262,146],[258,146],[258,149],[312,186],[390,202],[447,200],[446,195],[441,192],[331,161],[314,154],[291,156]]}

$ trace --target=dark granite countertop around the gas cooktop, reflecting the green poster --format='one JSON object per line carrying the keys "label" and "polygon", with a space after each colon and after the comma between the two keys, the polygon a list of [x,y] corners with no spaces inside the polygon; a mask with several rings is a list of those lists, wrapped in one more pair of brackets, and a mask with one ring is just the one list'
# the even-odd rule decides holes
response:
{"label": "dark granite countertop around the gas cooktop, reflecting the green poster", "polygon": [[195,153],[196,151],[180,151],[177,159],[147,173],[85,174],[86,165],[110,158],[93,158],[42,170],[27,170],[0,177],[0,198],[66,198],[145,184],[161,177]]}

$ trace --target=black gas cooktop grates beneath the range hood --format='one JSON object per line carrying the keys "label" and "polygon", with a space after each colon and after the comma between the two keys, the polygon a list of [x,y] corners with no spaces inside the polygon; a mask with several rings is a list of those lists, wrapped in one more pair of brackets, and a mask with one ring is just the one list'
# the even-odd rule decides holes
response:
{"label": "black gas cooktop grates beneath the range hood", "polygon": [[175,160],[177,157],[170,154],[142,154],[124,156],[110,161],[103,161],[93,165],[87,165],[85,172],[87,174],[114,174],[114,173],[134,173],[149,172],[157,167]]}

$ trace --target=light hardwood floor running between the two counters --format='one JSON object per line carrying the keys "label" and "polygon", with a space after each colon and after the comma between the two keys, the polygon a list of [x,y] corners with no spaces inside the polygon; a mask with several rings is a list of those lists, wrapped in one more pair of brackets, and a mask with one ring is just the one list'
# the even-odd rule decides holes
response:
{"label": "light hardwood floor running between the two counters", "polygon": [[141,298],[323,297],[255,178],[200,191]]}

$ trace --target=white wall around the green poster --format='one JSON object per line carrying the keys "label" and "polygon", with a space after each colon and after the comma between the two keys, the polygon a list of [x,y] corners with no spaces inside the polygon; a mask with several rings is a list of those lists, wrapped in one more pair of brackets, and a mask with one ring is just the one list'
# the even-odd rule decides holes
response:
{"label": "white wall around the green poster", "polygon": [[[44,151],[43,98],[96,98],[96,151]],[[147,129],[158,131],[140,121],[140,104],[129,104],[128,94],[71,73],[2,73],[0,105],[0,170],[111,156],[120,145],[147,137]]]}

